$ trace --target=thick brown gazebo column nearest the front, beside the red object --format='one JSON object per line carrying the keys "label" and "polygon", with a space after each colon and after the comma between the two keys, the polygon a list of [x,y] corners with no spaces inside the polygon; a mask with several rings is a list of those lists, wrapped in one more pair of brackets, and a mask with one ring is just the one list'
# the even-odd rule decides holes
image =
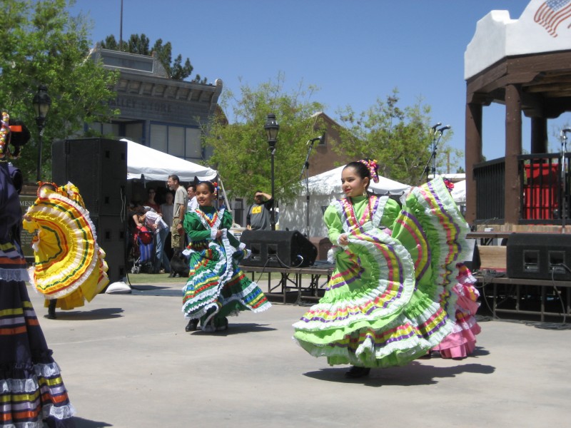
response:
{"label": "thick brown gazebo column nearest the front, beside the red object", "polygon": [[520,219],[520,175],[517,156],[522,153],[522,103],[520,86],[505,86],[505,223]]}

